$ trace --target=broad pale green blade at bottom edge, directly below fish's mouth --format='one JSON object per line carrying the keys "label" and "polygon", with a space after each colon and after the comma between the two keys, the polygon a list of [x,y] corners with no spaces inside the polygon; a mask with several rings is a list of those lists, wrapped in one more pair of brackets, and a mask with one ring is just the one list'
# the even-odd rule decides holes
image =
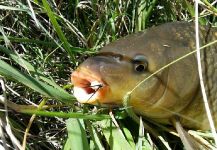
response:
{"label": "broad pale green blade at bottom edge, directly below fish's mouth", "polygon": [[64,150],[89,150],[87,135],[82,119],[68,119],[66,121],[68,139]]}

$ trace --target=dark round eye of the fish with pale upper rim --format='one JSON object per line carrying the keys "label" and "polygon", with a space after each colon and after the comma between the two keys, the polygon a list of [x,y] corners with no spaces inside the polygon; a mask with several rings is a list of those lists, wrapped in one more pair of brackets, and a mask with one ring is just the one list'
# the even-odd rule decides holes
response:
{"label": "dark round eye of the fish with pale upper rim", "polygon": [[134,70],[140,73],[146,71],[148,68],[148,62],[144,55],[136,55],[133,58],[133,65],[134,65]]}

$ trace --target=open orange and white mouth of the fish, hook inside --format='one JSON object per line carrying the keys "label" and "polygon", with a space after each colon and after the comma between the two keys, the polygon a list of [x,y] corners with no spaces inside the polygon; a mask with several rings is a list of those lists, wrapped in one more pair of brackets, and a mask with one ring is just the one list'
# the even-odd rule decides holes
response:
{"label": "open orange and white mouth of the fish, hook inside", "polygon": [[74,71],[71,81],[74,84],[73,95],[80,103],[99,104],[108,92],[106,82],[86,69]]}

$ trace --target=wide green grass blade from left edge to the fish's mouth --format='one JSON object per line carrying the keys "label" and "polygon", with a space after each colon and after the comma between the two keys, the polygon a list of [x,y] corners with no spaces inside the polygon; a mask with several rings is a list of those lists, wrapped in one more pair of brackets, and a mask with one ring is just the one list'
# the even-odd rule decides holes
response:
{"label": "wide green grass blade from left edge to the fish's mouth", "polygon": [[41,82],[30,75],[24,74],[3,60],[0,60],[0,74],[6,78],[16,80],[44,96],[58,99],[64,103],[72,103],[73,96],[67,92],[60,91],[50,85]]}

